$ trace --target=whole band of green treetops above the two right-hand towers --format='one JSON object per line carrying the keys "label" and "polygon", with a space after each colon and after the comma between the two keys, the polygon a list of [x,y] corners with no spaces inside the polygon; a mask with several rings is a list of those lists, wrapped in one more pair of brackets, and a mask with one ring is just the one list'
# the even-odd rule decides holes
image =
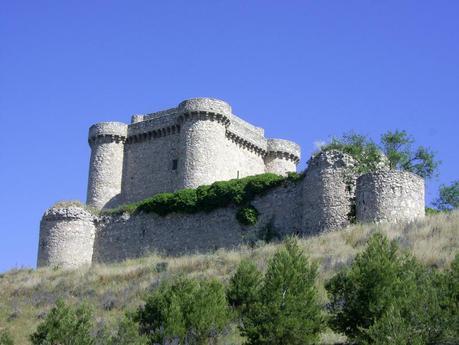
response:
{"label": "whole band of green treetops above the two right-hand towers", "polygon": [[345,133],[333,138],[321,150],[339,150],[351,155],[357,162],[356,172],[376,171],[384,166],[405,170],[424,178],[433,177],[440,164],[434,152],[424,146],[412,148],[414,139],[406,131],[388,131],[381,136],[380,144],[365,135]]}

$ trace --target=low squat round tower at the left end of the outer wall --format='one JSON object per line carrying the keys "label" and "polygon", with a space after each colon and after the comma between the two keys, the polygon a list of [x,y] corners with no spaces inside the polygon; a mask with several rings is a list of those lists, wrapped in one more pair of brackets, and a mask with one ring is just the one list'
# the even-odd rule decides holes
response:
{"label": "low squat round tower at the left end of the outer wall", "polygon": [[94,215],[83,205],[61,203],[40,222],[37,266],[74,268],[90,264],[94,246]]}

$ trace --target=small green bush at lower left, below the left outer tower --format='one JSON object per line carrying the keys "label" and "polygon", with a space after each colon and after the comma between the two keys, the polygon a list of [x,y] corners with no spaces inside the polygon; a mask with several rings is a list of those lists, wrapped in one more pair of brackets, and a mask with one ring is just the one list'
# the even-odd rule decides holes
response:
{"label": "small green bush at lower left, below the left outer tower", "polygon": [[58,300],[35,333],[33,345],[92,345],[92,312],[86,305],[72,307]]}

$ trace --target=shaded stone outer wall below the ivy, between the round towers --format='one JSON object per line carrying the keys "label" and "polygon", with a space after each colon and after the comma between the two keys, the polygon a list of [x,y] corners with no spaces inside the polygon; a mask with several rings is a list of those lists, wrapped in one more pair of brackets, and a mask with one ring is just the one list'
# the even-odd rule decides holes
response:
{"label": "shaded stone outer wall below the ivy, between the round towers", "polygon": [[239,224],[234,206],[210,213],[97,218],[93,261],[120,261],[151,252],[178,255],[233,248],[257,238],[268,224],[280,234],[301,231],[301,183],[278,187],[252,204],[260,212],[255,226]]}

